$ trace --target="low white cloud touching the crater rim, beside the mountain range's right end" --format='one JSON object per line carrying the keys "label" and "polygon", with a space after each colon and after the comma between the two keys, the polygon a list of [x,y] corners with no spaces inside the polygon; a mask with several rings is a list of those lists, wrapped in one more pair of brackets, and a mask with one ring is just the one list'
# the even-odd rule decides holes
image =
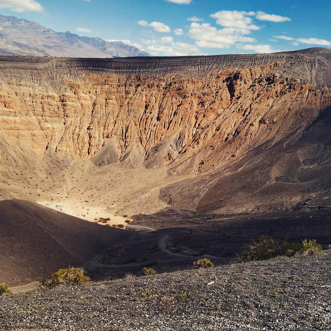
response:
{"label": "low white cloud touching the crater rim, beside the mountain range's right end", "polygon": [[196,45],[174,42],[172,37],[162,37],[158,40],[141,39],[141,41],[147,46],[147,51],[152,55],[201,55],[200,49]]}

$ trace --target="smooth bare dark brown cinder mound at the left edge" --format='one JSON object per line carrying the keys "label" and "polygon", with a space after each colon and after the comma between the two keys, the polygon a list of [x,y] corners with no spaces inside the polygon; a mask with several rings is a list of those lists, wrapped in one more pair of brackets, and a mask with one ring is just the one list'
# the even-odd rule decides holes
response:
{"label": "smooth bare dark brown cinder mound at the left edge", "polygon": [[29,201],[1,201],[0,283],[27,284],[60,267],[82,265],[132,235]]}

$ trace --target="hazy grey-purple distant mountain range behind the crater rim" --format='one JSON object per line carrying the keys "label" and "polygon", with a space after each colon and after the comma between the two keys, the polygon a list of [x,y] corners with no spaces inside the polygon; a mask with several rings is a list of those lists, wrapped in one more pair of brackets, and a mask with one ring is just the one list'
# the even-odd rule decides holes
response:
{"label": "hazy grey-purple distant mountain range behind the crater rim", "polygon": [[150,55],[121,41],[56,32],[36,22],[3,15],[0,15],[0,54],[103,58]]}

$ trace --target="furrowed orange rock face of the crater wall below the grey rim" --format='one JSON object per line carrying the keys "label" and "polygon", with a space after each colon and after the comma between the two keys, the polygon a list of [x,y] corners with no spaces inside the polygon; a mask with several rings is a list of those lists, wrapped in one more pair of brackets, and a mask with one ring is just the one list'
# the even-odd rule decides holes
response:
{"label": "furrowed orange rock face of the crater wall below the grey rim", "polygon": [[54,67],[46,66],[36,77],[14,79],[8,70],[0,91],[1,130],[40,154],[92,158],[111,144],[118,159],[134,149],[150,166],[197,155],[195,171],[202,171],[299,136],[331,103],[327,86],[300,82],[290,70],[279,74],[284,62],[201,77],[77,69],[66,75],[64,67],[52,77]]}

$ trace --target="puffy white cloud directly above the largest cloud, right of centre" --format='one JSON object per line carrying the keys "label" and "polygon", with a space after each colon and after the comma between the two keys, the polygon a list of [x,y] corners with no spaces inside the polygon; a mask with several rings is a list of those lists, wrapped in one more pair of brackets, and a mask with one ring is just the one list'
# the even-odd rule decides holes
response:
{"label": "puffy white cloud directly above the largest cloud, right of centre", "polygon": [[241,29],[242,34],[248,34],[250,30],[260,30],[260,26],[253,23],[250,16],[254,16],[255,12],[238,12],[236,10],[221,10],[210,17],[216,19],[216,23],[225,27]]}

